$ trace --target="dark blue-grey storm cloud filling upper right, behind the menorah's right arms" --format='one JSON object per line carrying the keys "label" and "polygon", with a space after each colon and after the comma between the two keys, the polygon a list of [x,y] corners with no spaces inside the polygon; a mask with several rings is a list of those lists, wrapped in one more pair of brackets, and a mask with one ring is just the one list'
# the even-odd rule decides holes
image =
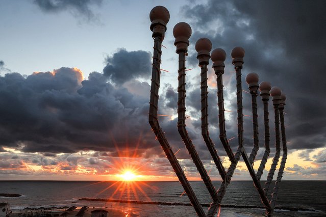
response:
{"label": "dark blue-grey storm cloud filling upper right, behind the menorah's right arms", "polygon": [[[322,99],[326,92],[323,84],[326,74],[322,72],[326,66],[326,29],[320,26],[326,22],[325,9],[324,1],[313,4],[307,1],[208,1],[183,8],[183,13],[191,20],[190,43],[207,37],[213,49],[221,47],[227,52],[225,74],[234,70],[230,64],[231,49],[242,46],[246,51],[243,75],[256,72],[260,81],[268,80],[272,86],[283,89],[287,95],[285,121],[289,125],[286,130],[287,139],[292,142],[290,149],[325,146],[326,101]],[[188,62],[192,65],[197,65],[196,54],[193,49],[189,50]],[[244,76],[242,85],[247,90]],[[235,76],[232,79],[230,85],[234,91]],[[227,88],[230,86],[226,85],[225,91]],[[235,101],[232,104],[234,110]],[[259,106],[261,110],[262,105]],[[247,97],[244,114],[250,115],[250,107]],[[272,106],[270,119],[272,122]],[[252,133],[250,125],[250,121],[245,122],[248,133]],[[270,127],[273,133],[273,123]]]}

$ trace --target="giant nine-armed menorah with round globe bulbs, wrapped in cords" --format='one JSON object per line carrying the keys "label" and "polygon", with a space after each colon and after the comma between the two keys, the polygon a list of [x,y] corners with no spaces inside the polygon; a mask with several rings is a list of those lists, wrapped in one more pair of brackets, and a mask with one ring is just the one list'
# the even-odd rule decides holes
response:
{"label": "giant nine-armed menorah with round globe bulbs, wrapped in cords", "polygon": [[[166,154],[167,159],[170,161],[170,164],[179,178],[180,183],[184,187],[184,190],[194,207],[198,216],[215,216],[218,209],[220,208],[221,201],[227,187],[231,182],[231,178],[234,174],[234,171],[237,167],[237,164],[242,156],[246,167],[249,171],[250,176],[254,181],[254,185],[257,188],[259,196],[262,203],[266,208],[266,215],[271,216],[273,209],[275,207],[275,202],[277,199],[278,191],[280,188],[280,182],[282,179],[283,171],[285,168],[286,157],[287,157],[287,147],[286,147],[286,137],[285,137],[285,126],[284,126],[284,105],[285,105],[285,96],[282,95],[282,91],[277,88],[271,88],[268,82],[262,82],[258,85],[259,77],[256,73],[249,73],[246,76],[246,82],[249,85],[250,94],[252,95],[252,112],[253,112],[253,137],[254,137],[254,147],[252,153],[247,156],[247,153],[243,147],[243,107],[242,107],[242,82],[241,82],[241,69],[243,65],[244,49],[241,47],[235,47],[231,56],[233,58],[233,65],[236,72],[236,88],[237,88],[237,121],[238,121],[238,149],[233,153],[229,141],[227,139],[227,133],[225,130],[225,117],[224,117],[224,99],[223,99],[223,80],[222,75],[224,73],[224,61],[226,58],[226,53],[223,49],[217,48],[212,51],[212,43],[207,38],[201,38],[196,42],[195,48],[198,52],[197,59],[199,60],[199,67],[201,68],[201,103],[202,103],[202,136],[208,147],[208,150],[214,160],[216,168],[222,178],[220,187],[215,189],[202,161],[200,160],[195,146],[193,145],[187,129],[186,129],[186,54],[189,46],[189,38],[191,36],[191,28],[185,22],[180,22],[173,28],[173,36],[175,38],[174,45],[177,47],[176,52],[179,55],[179,70],[178,70],[178,131],[181,135],[182,141],[184,142],[186,148],[189,151],[189,154],[200,174],[200,177],[203,179],[206,188],[212,198],[212,203],[206,214],[203,210],[203,207],[200,205],[195,193],[193,192],[191,185],[185,176],[177,157],[175,157],[167,138],[163,130],[161,129],[158,121],[158,99],[159,99],[159,87],[160,87],[160,64],[161,64],[161,55],[162,55],[162,41],[164,39],[166,24],[169,21],[170,15],[166,8],[162,6],[157,6],[152,9],[149,14],[151,19],[151,31],[153,32],[154,38],[154,53],[153,53],[153,69],[152,69],[152,86],[151,86],[151,101],[149,102],[149,124],[156,135],[157,140],[161,144],[163,151]],[[213,61],[213,68],[215,74],[217,75],[217,96],[218,96],[218,117],[219,117],[219,138],[223,145],[225,152],[231,165],[227,170],[222,165],[220,157],[215,149],[215,145],[210,138],[208,131],[208,85],[207,85],[207,71],[209,59]],[[259,148],[259,138],[258,138],[258,114],[257,114],[257,96],[258,89],[260,89],[260,95],[262,97],[264,105],[264,128],[265,128],[265,151],[260,162],[259,169],[257,173],[255,172],[253,165],[256,158],[258,148]],[[273,157],[272,165],[269,170],[267,181],[263,187],[260,184],[260,179],[263,174],[269,153],[269,114],[268,114],[268,100],[269,96],[272,96],[272,101],[274,105],[274,117],[275,117],[275,156]],[[271,184],[271,181],[274,176],[274,172],[277,168],[277,164],[280,158],[280,121],[281,121],[281,133],[282,133],[282,144],[283,144],[283,156],[281,161],[281,166],[279,168],[279,173],[277,180],[275,182],[275,187],[273,188],[273,193],[271,199],[267,197],[268,190]]]}

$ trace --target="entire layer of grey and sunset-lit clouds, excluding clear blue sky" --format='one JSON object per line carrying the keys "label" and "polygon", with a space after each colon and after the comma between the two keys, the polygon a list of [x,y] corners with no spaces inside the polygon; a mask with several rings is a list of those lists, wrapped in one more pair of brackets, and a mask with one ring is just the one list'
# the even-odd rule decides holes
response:
{"label": "entire layer of grey and sunset-lit clouds, excluding clear blue sky", "polygon": [[[38,1],[34,3],[45,12],[69,11],[93,19],[93,5],[102,1]],[[244,77],[250,72],[279,86],[287,95],[286,125],[290,153],[315,167],[289,166],[289,177],[325,174],[326,92],[324,80],[326,4],[315,1],[213,1],[184,6],[181,13],[188,19],[193,35],[190,38],[187,67],[197,66],[194,44],[200,37],[212,41],[213,48],[221,47],[230,53],[243,46],[246,53]],[[0,171],[25,174],[29,165],[43,168],[46,174],[70,174],[87,171],[107,174],[114,170],[117,157],[134,158],[130,164],[146,166],[148,174],[169,175],[171,167],[155,141],[148,119],[149,76],[151,53],[144,50],[117,50],[105,60],[103,72],[92,72],[84,79],[77,68],[62,67],[52,72],[36,72],[29,76],[8,73],[0,76]],[[229,56],[229,55],[228,55]],[[173,59],[173,58],[171,58]],[[175,62],[177,64],[177,62]],[[237,136],[235,74],[231,58],[225,61],[223,75],[228,138]],[[0,70],[4,68],[0,61]],[[225,152],[219,142],[215,74],[209,66],[209,127],[219,154]],[[195,73],[199,74],[196,67]],[[207,169],[214,168],[200,135],[199,78],[187,77],[187,130]],[[193,77],[191,77],[193,76]],[[175,76],[177,79],[177,76]],[[162,126],[173,151],[187,174],[197,172],[177,131],[175,119],[177,88],[165,80],[162,73],[159,113]],[[244,114],[251,114],[250,95],[243,92]],[[270,103],[271,104],[271,103]],[[262,102],[259,105],[260,147],[263,146]],[[270,132],[274,137],[273,109],[270,105]],[[247,151],[252,148],[252,119],[244,117]],[[274,139],[271,140],[273,147]],[[237,139],[230,142],[233,150]],[[2,147],[3,146],[3,147]],[[9,148],[9,149],[8,149]],[[13,154],[10,148],[20,151]],[[318,153],[313,154],[313,149]],[[9,151],[8,151],[9,150]],[[272,148],[272,152],[274,149]],[[15,153],[16,153],[15,152]],[[262,150],[257,159],[261,158]],[[273,153],[271,153],[271,156]],[[222,157],[222,159],[224,159]],[[224,159],[225,161],[225,159]],[[247,175],[241,169],[237,173]],[[43,174],[44,174],[43,173]],[[214,170],[212,171],[214,172]],[[41,174],[41,172],[40,172]],[[217,174],[217,173],[216,173]],[[293,175],[293,176],[292,176]]]}

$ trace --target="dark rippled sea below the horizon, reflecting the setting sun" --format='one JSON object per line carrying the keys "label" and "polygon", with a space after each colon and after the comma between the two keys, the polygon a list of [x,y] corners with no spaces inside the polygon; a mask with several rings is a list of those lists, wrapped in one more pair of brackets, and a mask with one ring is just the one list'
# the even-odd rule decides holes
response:
{"label": "dark rippled sea below the horizon, reflecting the setting sun", "polygon": [[[216,189],[220,181],[213,181]],[[263,184],[264,182],[262,182]],[[190,182],[202,204],[210,204],[211,198],[200,181]],[[20,194],[20,197],[0,197],[0,203],[9,203],[12,210],[38,207],[63,207],[87,205],[106,209],[118,209],[132,216],[196,216],[189,199],[178,181],[0,181],[0,193]],[[271,185],[271,192],[273,183]],[[270,194],[269,194],[270,195]],[[167,202],[162,204],[136,204],[121,202],[82,201],[81,198],[112,200]],[[253,181],[232,181],[222,200],[220,216],[264,216],[264,208]],[[246,207],[247,206],[247,207]],[[253,206],[258,206],[252,208]],[[326,181],[281,182],[274,216],[326,216]],[[288,210],[287,207],[308,210]],[[203,207],[207,212],[208,207]],[[126,214],[130,216],[130,214]]]}

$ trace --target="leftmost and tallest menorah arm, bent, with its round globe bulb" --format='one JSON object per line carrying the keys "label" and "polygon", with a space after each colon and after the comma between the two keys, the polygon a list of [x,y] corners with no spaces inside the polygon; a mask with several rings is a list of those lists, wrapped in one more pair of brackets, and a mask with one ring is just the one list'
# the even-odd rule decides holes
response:
{"label": "leftmost and tallest menorah arm, bent, with its round globe bulb", "polygon": [[151,101],[149,102],[149,117],[148,122],[155,133],[156,138],[162,146],[167,159],[169,160],[175,174],[178,176],[192,206],[194,207],[198,216],[205,216],[205,212],[200,205],[196,195],[194,194],[190,183],[185,176],[177,157],[175,157],[166,137],[159,125],[158,121],[158,100],[159,100],[159,87],[160,87],[160,64],[162,54],[162,41],[166,31],[166,23],[169,21],[170,14],[163,6],[157,6],[152,9],[149,14],[151,19],[151,31],[154,38],[154,52],[153,52],[153,69],[152,69],[152,84],[151,84]]}

